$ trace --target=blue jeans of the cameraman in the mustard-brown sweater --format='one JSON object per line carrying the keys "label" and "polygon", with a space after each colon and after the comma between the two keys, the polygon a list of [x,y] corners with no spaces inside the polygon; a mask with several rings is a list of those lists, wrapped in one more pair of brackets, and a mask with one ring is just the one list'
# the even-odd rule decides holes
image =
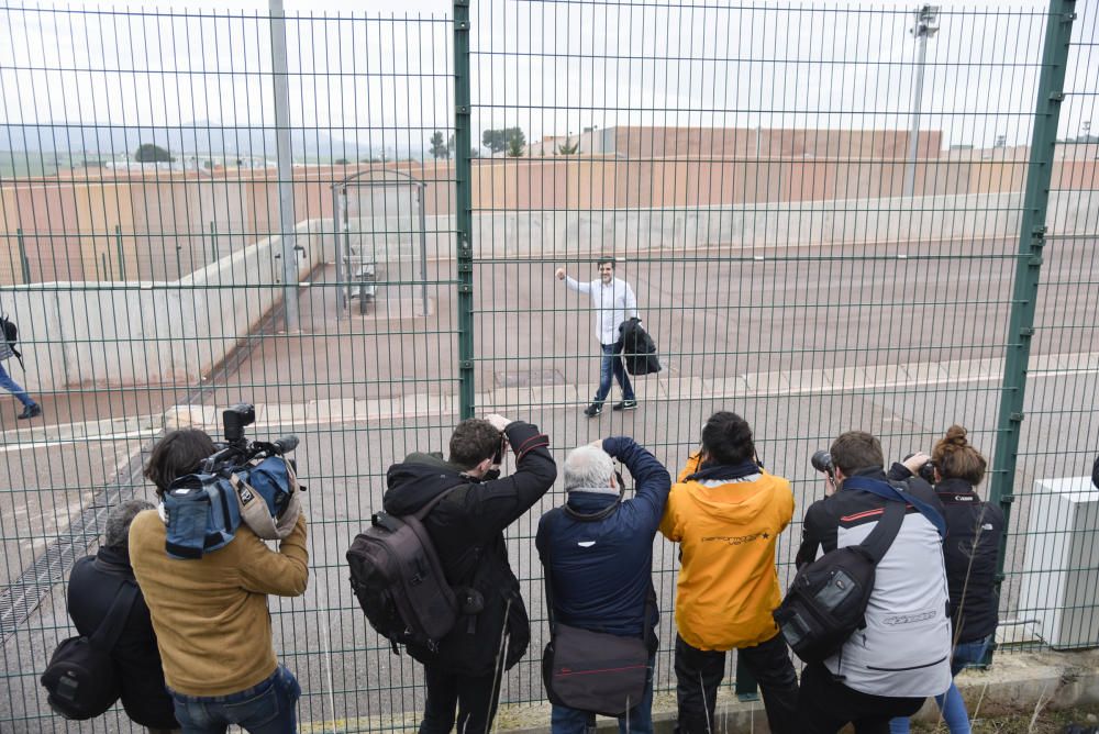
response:
{"label": "blue jeans of the cameraman in the mustard-brown sweater", "polygon": [[236,724],[252,734],[293,734],[301,687],[285,665],[270,678],[229,696],[184,696],[169,691],[184,734],[223,734]]}

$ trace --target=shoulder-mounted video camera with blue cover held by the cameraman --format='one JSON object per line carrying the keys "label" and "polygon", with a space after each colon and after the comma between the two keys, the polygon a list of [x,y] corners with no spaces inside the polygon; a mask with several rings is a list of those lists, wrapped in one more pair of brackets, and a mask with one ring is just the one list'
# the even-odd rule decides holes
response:
{"label": "shoulder-mounted video camera with blue cover held by the cameraman", "polygon": [[248,403],[222,413],[225,441],[199,470],[177,478],[164,496],[167,538],[174,558],[201,558],[227,545],[243,522],[264,540],[290,534],[300,511],[295,464],[285,454],[297,436],[274,442],[252,441],[244,429],[256,421]]}

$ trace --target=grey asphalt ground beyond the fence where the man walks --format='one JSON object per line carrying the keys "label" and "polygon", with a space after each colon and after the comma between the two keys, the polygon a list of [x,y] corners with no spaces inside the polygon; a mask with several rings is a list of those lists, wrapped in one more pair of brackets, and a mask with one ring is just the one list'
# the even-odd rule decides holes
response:
{"label": "grey asphalt ground beyond the fence where the man walks", "polygon": [[[1081,344],[1095,324],[1096,294],[1087,288],[1094,269],[1094,241],[1058,245],[1043,267],[1047,283],[1039,301],[1033,353],[1085,352]],[[844,251],[841,257],[818,249],[776,248],[722,254],[713,259],[682,260],[660,255],[657,262],[622,266],[637,291],[642,315],[660,346],[666,370],[657,379],[699,383],[747,372],[789,374],[817,367],[928,363],[940,359],[997,358],[1007,341],[1007,315],[1014,262],[1013,245],[978,243],[944,247],[941,256],[963,259],[914,259],[901,246]],[[857,248],[856,248],[857,249]],[[1053,248],[1051,248],[1052,251]],[[902,257],[903,256],[903,257]],[[763,257],[763,260],[754,259]],[[965,259],[968,257],[968,259]],[[862,259],[859,259],[862,258]],[[872,258],[872,259],[866,259]],[[481,264],[475,273],[474,354],[478,389],[513,386],[587,386],[598,370],[590,312],[586,299],[552,280],[552,263]],[[576,269],[576,265],[573,268]],[[584,267],[590,267],[585,265]],[[488,276],[491,275],[491,278]],[[443,397],[456,385],[457,337],[452,298],[453,263],[431,264],[431,315],[418,318],[418,285],[393,282],[388,294],[365,316],[335,319],[329,271],[302,290],[302,330],[268,334],[227,374],[209,385],[204,404],[238,400],[306,403],[314,399],[376,400],[408,393]],[[387,276],[400,280],[397,274]],[[489,285],[491,283],[491,285]],[[387,312],[388,310],[388,312]],[[1053,370],[1032,375],[1023,456],[1017,491],[1034,478],[1087,474],[1096,446],[1091,408],[1096,375]],[[511,413],[539,423],[552,437],[556,456],[598,436],[625,433],[653,448],[673,472],[697,442],[699,427],[715,409],[731,408],[753,423],[761,455],[773,471],[793,481],[796,523],[784,535],[779,563],[784,583],[800,533],[797,519],[820,496],[821,485],[808,456],[830,437],[851,427],[882,435],[887,453],[900,457],[931,442],[952,422],[977,429],[972,436],[986,454],[995,445],[1000,398],[998,381],[928,382],[872,390],[822,388],[802,396],[767,394],[725,398],[714,394],[654,392],[634,413],[610,411],[589,421],[580,414],[586,396],[573,400],[533,398],[510,401]],[[643,394],[645,393],[643,392]],[[718,391],[720,392],[720,390]],[[193,394],[190,387],[121,391],[74,390],[47,397],[47,421],[88,422],[157,414]],[[523,393],[519,393],[523,394]],[[530,394],[530,393],[528,393]],[[612,393],[614,398],[615,393]],[[9,410],[10,408],[10,410]],[[449,404],[453,409],[453,402]],[[151,441],[141,431],[104,430],[98,436],[53,445],[34,440],[30,447],[13,434],[18,424],[0,402],[0,515],[4,523],[4,579],[27,568],[43,545],[63,537],[73,516],[113,481],[116,469],[140,456]],[[393,657],[368,632],[349,592],[343,553],[379,504],[385,469],[408,451],[441,449],[456,416],[439,412],[399,421],[344,424],[286,424],[302,437],[297,458],[309,485],[312,521],[312,580],[304,598],[271,602],[277,645],[302,680],[306,721],[344,721],[348,731],[377,727],[378,721],[417,711],[422,680],[407,657]],[[22,426],[19,426],[22,427]],[[147,488],[138,494],[151,497]],[[510,531],[512,564],[523,580],[534,635],[524,660],[509,675],[504,700],[542,699],[536,659],[544,619],[537,561],[531,557],[539,514],[562,500],[552,494]],[[1013,508],[1012,526],[1028,523],[1025,499]],[[675,553],[654,543],[656,583],[660,591],[662,638],[657,685],[670,671],[670,600]],[[1021,544],[1011,546],[1009,569],[1020,568]],[[1009,578],[1007,597],[1018,593]],[[47,714],[36,676],[48,652],[71,634],[64,611],[63,587],[4,644],[8,694],[0,694],[0,721],[8,731],[64,729]],[[122,729],[126,729],[122,720]],[[108,716],[79,731],[114,731]],[[77,731],[74,726],[73,731]]]}

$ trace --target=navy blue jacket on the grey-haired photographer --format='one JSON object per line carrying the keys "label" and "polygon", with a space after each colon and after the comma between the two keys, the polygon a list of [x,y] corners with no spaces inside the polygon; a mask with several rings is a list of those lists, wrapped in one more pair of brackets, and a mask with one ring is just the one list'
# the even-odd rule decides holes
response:
{"label": "navy blue jacket on the grey-haired photographer", "polygon": [[[653,601],[650,624],[659,613],[653,590],[653,538],[671,489],[668,470],[633,438],[603,441],[603,451],[630,470],[633,499],[609,516],[585,522],[554,508],[539,522],[535,545],[553,585],[555,621],[622,636],[642,636],[645,603]],[[568,505],[592,514],[617,501],[613,494],[574,490]]]}

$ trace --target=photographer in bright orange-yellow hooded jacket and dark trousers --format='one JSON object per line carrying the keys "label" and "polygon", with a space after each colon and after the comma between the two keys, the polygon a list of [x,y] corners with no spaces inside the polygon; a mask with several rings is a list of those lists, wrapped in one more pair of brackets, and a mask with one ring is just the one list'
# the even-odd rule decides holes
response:
{"label": "photographer in bright orange-yellow hooded jacket and dark trousers", "polygon": [[715,730],[730,649],[759,683],[770,731],[797,731],[798,679],[771,616],[781,596],[775,547],[792,516],[790,482],[759,465],[747,421],[728,411],[711,415],[660,523],[680,544],[675,668],[681,734]]}

